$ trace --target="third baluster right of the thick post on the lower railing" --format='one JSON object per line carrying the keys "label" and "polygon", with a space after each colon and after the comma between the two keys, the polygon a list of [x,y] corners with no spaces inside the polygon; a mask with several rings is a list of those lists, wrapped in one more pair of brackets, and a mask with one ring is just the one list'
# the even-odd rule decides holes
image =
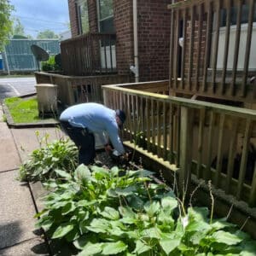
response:
{"label": "third baluster right of the thick post on the lower railing", "polygon": [[220,115],[220,121],[219,121],[219,133],[218,133],[218,155],[217,155],[217,166],[216,166],[216,176],[214,184],[216,187],[219,185],[219,177],[220,173],[222,171],[222,163],[223,163],[223,137],[224,137],[224,120],[225,115],[222,113]]}

